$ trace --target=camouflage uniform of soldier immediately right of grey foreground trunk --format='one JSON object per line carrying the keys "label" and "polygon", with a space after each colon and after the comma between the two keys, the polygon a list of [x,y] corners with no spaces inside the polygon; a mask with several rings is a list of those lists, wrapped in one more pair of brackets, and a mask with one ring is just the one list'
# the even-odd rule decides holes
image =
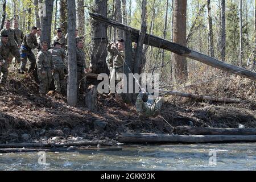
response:
{"label": "camouflage uniform of soldier immediately right of grey foreground trunk", "polygon": [[83,49],[76,48],[76,60],[77,60],[77,89],[79,89],[79,85],[80,85],[81,90],[85,91],[86,80],[84,78],[84,69],[86,68],[86,64],[85,64],[85,52]]}

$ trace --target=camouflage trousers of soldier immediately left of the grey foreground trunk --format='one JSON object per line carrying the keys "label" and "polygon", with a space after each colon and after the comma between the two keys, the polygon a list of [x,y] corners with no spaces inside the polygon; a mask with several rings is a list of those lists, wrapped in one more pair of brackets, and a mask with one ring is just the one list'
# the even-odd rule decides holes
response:
{"label": "camouflage trousers of soldier immediately left of the grey foreground trunk", "polygon": [[56,67],[54,68],[52,77],[54,79],[54,86],[56,92],[65,92],[66,90],[66,81],[64,75],[64,67]]}

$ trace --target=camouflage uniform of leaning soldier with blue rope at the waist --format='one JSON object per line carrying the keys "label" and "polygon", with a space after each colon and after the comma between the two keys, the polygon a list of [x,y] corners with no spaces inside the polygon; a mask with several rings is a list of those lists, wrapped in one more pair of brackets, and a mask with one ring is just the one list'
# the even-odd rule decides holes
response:
{"label": "camouflage uniform of leaning soldier with blue rope at the waist", "polygon": [[23,38],[22,46],[20,47],[20,57],[21,64],[20,70],[25,71],[27,59],[30,61],[30,71],[35,70],[36,59],[35,55],[32,52],[32,49],[38,47],[38,41],[36,40],[36,36],[34,34],[27,34]]}

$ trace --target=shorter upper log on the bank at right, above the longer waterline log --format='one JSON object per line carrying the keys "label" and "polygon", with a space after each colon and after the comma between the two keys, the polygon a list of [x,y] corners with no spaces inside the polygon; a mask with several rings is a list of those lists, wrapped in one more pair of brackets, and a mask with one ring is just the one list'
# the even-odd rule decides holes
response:
{"label": "shorter upper log on the bank at right, above the longer waterline log", "polygon": [[256,135],[256,129],[221,129],[212,127],[175,127],[177,134],[190,135]]}

